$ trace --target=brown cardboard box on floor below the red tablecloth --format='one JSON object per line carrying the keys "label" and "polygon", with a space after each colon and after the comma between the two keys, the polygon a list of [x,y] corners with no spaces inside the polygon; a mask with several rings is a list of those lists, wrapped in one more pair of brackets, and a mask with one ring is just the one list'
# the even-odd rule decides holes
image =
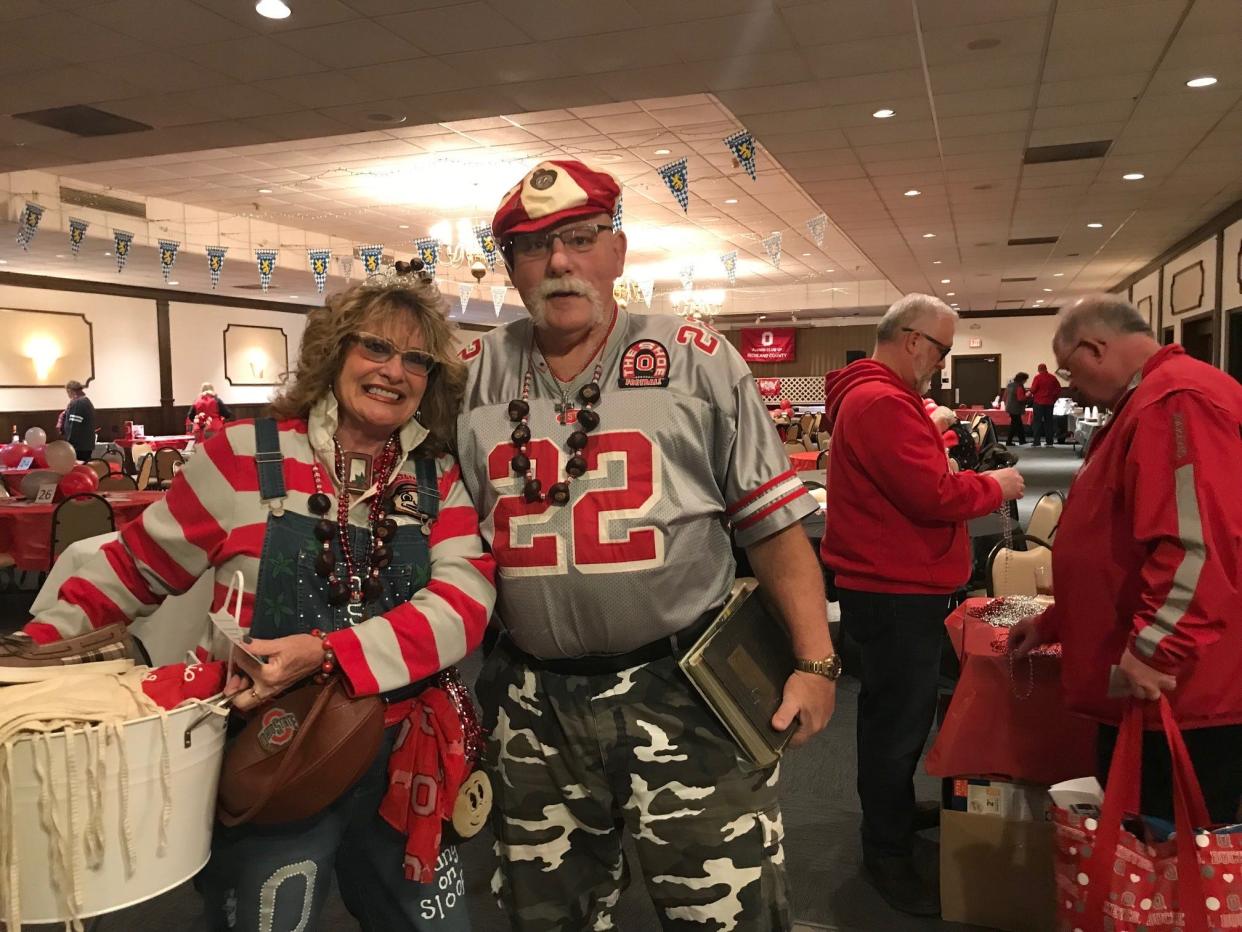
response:
{"label": "brown cardboard box on floor below the red tablecloth", "polygon": [[1049,821],[941,811],[941,917],[1005,932],[1056,928],[1053,850]]}

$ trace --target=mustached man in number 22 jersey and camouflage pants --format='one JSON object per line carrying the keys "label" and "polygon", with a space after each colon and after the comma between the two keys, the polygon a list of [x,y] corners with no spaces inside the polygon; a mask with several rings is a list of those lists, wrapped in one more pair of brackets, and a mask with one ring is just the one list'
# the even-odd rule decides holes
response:
{"label": "mustached man in number 22 jersey and camouflage pants", "polygon": [[502,580],[478,686],[493,889],[515,928],[612,928],[627,829],[667,926],[787,928],[777,770],[746,763],[676,655],[729,595],[732,532],[804,661],[773,727],[825,726],[840,665],[799,526],[816,506],[738,353],[612,301],[619,198],[579,162],[527,174],[492,229],[530,319],[462,352],[462,475]]}

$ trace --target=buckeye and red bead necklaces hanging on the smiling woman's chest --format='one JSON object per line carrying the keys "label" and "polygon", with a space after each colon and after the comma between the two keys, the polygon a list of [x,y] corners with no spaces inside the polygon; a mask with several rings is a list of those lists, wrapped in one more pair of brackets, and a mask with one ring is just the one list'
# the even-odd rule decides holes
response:
{"label": "buckeye and red bead necklaces hanging on the smiling woman's chest", "polygon": [[[307,505],[310,512],[319,518],[314,526],[314,536],[323,544],[323,551],[314,560],[314,572],[328,579],[328,603],[330,605],[344,605],[349,601],[378,601],[384,595],[380,570],[392,562],[390,543],[396,534],[396,522],[388,517],[384,511],[384,490],[388,488],[389,476],[396,465],[399,452],[396,434],[392,434],[384,444],[384,450],[375,464],[375,497],[371,500],[366,521],[371,539],[365,577],[363,572],[359,572],[361,562],[354,553],[349,536],[349,486],[345,482],[345,454],[335,437],[333,437],[333,446],[335,447],[337,482],[340,486],[340,495],[337,497],[335,523],[327,517],[328,512],[332,511],[332,500],[323,491],[320,476],[323,465],[317,461],[310,471],[314,478],[314,495],[310,496]],[[340,542],[339,562],[332,552],[333,538],[339,538]],[[344,564],[344,573],[342,573],[342,564]]]}

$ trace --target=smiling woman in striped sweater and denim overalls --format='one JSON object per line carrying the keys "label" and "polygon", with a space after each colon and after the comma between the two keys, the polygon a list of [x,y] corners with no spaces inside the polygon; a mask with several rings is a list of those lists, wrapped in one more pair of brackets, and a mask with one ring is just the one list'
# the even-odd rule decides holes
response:
{"label": "smiling woman in striped sweater and denim overalls", "polygon": [[[412,275],[373,280],[310,311],[296,375],[272,404],[279,420],[236,421],[207,440],[166,502],[125,527],[26,628],[48,640],[128,621],[211,569],[219,610],[241,570],[241,624],[267,662],[235,651],[236,708],[261,707],[325,664],[353,693],[389,701],[379,758],[323,813],[216,826],[199,877],[212,928],[314,927],[333,871],[364,930],[468,928],[456,851],[438,862],[432,851],[424,882],[406,881],[417,833],[407,843],[378,814],[396,726],[428,677],[478,645],[496,598],[496,564],[445,452],[465,368],[443,314],[443,298]],[[260,475],[256,451],[279,462],[274,478],[267,466]]]}

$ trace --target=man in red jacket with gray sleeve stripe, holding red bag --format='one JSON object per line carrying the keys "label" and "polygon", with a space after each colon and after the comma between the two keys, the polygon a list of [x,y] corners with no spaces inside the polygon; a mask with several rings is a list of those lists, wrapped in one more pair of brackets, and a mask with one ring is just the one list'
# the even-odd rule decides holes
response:
{"label": "man in red jacket with gray sleeve stripe, holding red bag", "polygon": [[[1056,605],[1017,625],[1022,657],[1063,645],[1071,708],[1104,723],[1099,773],[1125,708],[1167,695],[1208,811],[1236,821],[1242,795],[1242,386],[1161,347],[1114,295],[1062,312],[1052,349],[1061,377],[1113,411],[1092,439],[1053,548]],[[1155,707],[1148,727],[1159,728]],[[1143,811],[1172,819],[1164,736],[1144,736]]]}

